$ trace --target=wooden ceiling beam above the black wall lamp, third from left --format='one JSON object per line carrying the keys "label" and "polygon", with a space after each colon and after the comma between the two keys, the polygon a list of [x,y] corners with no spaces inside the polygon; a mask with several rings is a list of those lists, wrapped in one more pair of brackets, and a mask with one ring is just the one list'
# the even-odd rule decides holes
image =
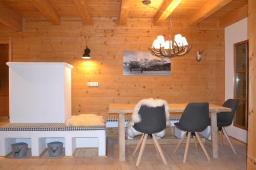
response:
{"label": "wooden ceiling beam above the black wall lamp, third from left", "polygon": [[92,25],[92,17],[86,0],[74,0],[84,25]]}

